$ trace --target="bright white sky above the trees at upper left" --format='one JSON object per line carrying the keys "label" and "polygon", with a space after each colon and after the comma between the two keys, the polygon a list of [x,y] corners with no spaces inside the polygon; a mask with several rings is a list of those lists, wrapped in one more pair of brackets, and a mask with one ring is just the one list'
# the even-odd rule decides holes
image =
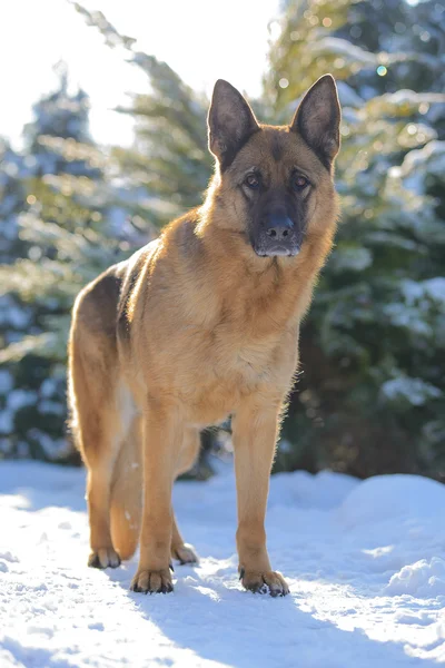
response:
{"label": "bright white sky above the trees at upper left", "polygon": [[[138,49],[166,60],[190,86],[210,92],[218,78],[250,95],[266,68],[268,22],[279,0],[85,0],[102,11]],[[72,85],[91,97],[97,141],[127,145],[131,122],[111,109],[127,91],[147,89],[147,78],[103,45],[67,0],[3,0],[0,3],[0,136],[19,146],[31,106],[56,85],[52,66],[63,59]]]}

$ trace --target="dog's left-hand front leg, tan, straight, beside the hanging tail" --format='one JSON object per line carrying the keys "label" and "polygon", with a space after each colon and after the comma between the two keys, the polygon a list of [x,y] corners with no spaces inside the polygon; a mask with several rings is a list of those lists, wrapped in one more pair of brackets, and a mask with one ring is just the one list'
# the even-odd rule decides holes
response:
{"label": "dog's left-hand front leg, tan, straight, beside the hanging tail", "polygon": [[177,404],[150,402],[144,428],[144,517],[138,571],[132,591],[172,591],[170,544],[172,531],[171,489],[184,423]]}

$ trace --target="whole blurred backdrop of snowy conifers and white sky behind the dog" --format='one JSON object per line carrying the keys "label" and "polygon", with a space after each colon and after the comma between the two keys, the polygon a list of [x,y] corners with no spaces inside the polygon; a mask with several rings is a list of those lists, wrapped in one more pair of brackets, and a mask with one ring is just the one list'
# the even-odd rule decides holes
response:
{"label": "whole blurred backdrop of snowy conifers and white sky behind the dog", "polygon": [[[2,2],[0,458],[79,463],[73,299],[200,204],[214,81],[283,124],[330,71],[342,220],[275,470],[443,479],[444,53],[435,0]],[[202,442],[196,477],[230,456],[229,425]]]}

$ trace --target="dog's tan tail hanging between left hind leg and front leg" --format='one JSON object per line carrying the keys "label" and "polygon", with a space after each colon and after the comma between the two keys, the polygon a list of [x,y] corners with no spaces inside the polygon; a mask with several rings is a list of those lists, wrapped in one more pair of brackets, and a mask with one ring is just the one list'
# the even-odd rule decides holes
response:
{"label": "dog's tan tail hanging between left hind leg and front leg", "polygon": [[139,542],[142,515],[141,419],[136,416],[120,448],[111,489],[111,538],[122,560]]}

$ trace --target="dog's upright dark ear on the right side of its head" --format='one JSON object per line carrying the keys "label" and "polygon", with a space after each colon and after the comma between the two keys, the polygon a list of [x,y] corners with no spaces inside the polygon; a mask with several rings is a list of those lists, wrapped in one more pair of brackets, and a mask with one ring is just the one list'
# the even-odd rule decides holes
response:
{"label": "dog's upright dark ear on the right side of its head", "polygon": [[299,105],[290,129],[298,131],[326,166],[340,147],[340,106],[332,75],[320,77]]}

